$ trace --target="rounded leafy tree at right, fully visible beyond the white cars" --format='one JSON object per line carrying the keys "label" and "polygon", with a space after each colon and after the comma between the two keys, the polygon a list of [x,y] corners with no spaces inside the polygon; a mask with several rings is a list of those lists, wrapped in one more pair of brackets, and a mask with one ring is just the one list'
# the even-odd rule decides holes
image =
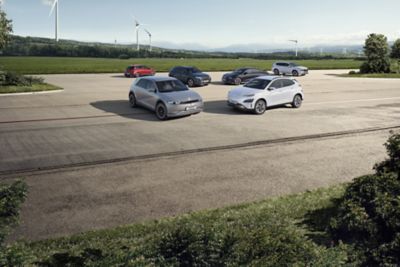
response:
{"label": "rounded leafy tree at right, fully visible beyond the white cars", "polygon": [[361,66],[361,73],[389,73],[389,45],[383,34],[371,33],[365,40],[364,54],[367,61]]}

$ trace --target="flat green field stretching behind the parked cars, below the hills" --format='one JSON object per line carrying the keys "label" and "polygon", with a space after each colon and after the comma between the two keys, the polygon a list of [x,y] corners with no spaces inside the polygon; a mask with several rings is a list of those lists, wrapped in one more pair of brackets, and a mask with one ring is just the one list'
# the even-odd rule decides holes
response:
{"label": "flat green field stretching behind the parked cars, below the hills", "polygon": [[[22,74],[62,73],[122,73],[130,64],[145,64],[158,72],[169,71],[177,65],[193,65],[203,71],[231,71],[239,67],[256,67],[270,70],[275,60],[256,59],[98,59],[57,57],[0,57],[0,66]],[[358,69],[361,61],[346,60],[298,60],[298,64],[310,69]]]}

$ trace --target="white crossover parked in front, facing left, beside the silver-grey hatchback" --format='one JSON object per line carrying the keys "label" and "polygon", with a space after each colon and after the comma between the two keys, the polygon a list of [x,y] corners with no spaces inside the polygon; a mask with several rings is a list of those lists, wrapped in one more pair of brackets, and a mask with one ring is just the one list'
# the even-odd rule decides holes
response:
{"label": "white crossover parked in front, facing left, beside the silver-grey hatchback", "polygon": [[263,114],[267,107],[283,104],[299,108],[303,99],[303,89],[295,79],[277,76],[255,78],[228,93],[229,106],[256,114]]}

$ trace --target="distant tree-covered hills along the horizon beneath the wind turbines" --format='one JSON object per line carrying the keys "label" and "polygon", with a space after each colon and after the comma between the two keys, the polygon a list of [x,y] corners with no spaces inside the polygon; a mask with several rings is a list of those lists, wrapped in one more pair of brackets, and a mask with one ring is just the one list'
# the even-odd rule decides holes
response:
{"label": "distant tree-covered hills along the horizon beneath the wind turbines", "polygon": [[[226,51],[195,51],[186,49],[169,49],[141,45],[139,51],[135,44],[110,44],[101,42],[80,42],[75,40],[60,40],[42,37],[12,36],[10,44],[2,51],[3,56],[57,56],[57,57],[98,57],[98,58],[256,58],[256,59],[318,59],[318,58],[351,58],[357,57],[360,47],[347,48],[343,51],[340,47],[326,47],[324,53],[317,48],[300,50],[299,57],[294,57],[293,51],[277,49],[246,50],[246,46],[231,47]],[[330,52],[332,51],[332,52]],[[345,53],[344,53],[345,52]]]}

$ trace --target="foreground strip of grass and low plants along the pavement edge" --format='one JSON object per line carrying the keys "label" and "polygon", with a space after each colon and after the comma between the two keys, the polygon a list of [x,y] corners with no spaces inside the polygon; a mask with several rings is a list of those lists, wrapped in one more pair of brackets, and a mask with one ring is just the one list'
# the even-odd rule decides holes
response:
{"label": "foreground strip of grass and low plants along the pavement edge", "polygon": [[[347,245],[324,231],[334,186],[302,194],[35,243],[17,243],[25,265],[338,266]],[[22,265],[24,265],[22,264]],[[29,265],[30,266],[30,265]]]}

